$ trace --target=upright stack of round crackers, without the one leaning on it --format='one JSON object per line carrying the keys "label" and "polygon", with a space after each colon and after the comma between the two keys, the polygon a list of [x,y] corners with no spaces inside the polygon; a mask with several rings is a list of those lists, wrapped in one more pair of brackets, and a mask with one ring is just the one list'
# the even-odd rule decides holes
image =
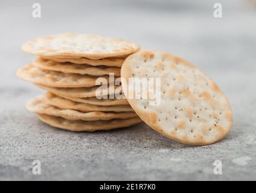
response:
{"label": "upright stack of round crackers, without the one leaning on it", "polygon": [[124,59],[139,50],[135,43],[65,33],[29,40],[22,50],[39,55],[17,75],[46,90],[26,106],[43,122],[72,131],[109,130],[141,122],[128,101],[115,98],[117,91],[109,86],[120,77]]}

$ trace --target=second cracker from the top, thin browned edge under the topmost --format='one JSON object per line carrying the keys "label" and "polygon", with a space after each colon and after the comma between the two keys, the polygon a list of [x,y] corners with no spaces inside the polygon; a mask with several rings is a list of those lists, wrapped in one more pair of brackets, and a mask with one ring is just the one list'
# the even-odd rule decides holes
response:
{"label": "second cracker from the top, thin browned edge under the topmost", "polygon": [[48,56],[42,56],[43,59],[51,60],[53,62],[71,62],[77,65],[91,65],[91,66],[110,66],[110,67],[121,67],[123,65],[124,59],[117,58],[117,57],[110,57],[106,59],[98,59],[98,60],[92,60],[87,59],[85,57],[82,58],[60,58],[60,57],[48,57]]}

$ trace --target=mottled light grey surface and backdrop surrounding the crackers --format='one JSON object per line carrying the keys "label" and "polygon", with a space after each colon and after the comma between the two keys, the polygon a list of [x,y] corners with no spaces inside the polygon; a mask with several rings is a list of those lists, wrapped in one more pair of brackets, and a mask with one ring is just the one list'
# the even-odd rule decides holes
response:
{"label": "mottled light grey surface and backdrop surrounding the crackers", "polygon": [[[39,2],[42,17],[34,19]],[[223,5],[222,19],[213,4]],[[0,180],[256,180],[256,3],[233,1],[1,1]],[[25,110],[43,93],[16,69],[35,57],[28,39],[62,32],[132,40],[184,57],[228,96],[234,124],[223,141],[191,147],[147,125],[95,133],[50,127]],[[42,162],[42,175],[31,172]],[[213,174],[222,160],[222,175]]]}

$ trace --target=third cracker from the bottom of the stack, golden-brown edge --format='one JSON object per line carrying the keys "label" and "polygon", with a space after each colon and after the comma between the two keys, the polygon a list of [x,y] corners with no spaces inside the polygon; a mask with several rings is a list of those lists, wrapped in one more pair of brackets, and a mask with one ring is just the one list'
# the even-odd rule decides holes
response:
{"label": "third cracker from the bottom of the stack, golden-brown edge", "polygon": [[45,93],[45,100],[48,104],[60,109],[73,109],[81,112],[133,112],[130,105],[98,106],[94,104],[79,103],[54,95],[54,93],[51,92]]}

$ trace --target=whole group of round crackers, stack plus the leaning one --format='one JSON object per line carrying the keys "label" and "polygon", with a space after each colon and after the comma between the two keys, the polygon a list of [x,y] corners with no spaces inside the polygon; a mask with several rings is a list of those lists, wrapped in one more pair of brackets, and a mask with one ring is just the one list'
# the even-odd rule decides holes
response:
{"label": "whole group of round crackers, stack plus the leaning one", "polygon": [[[138,51],[132,42],[86,34],[41,37],[23,50],[39,58],[19,69],[18,77],[47,90],[27,109],[54,127],[108,130],[142,119],[167,138],[193,145],[213,144],[231,130],[231,106],[219,86],[172,54]],[[120,76],[121,89],[110,88]],[[127,99],[110,97],[120,92]]]}

